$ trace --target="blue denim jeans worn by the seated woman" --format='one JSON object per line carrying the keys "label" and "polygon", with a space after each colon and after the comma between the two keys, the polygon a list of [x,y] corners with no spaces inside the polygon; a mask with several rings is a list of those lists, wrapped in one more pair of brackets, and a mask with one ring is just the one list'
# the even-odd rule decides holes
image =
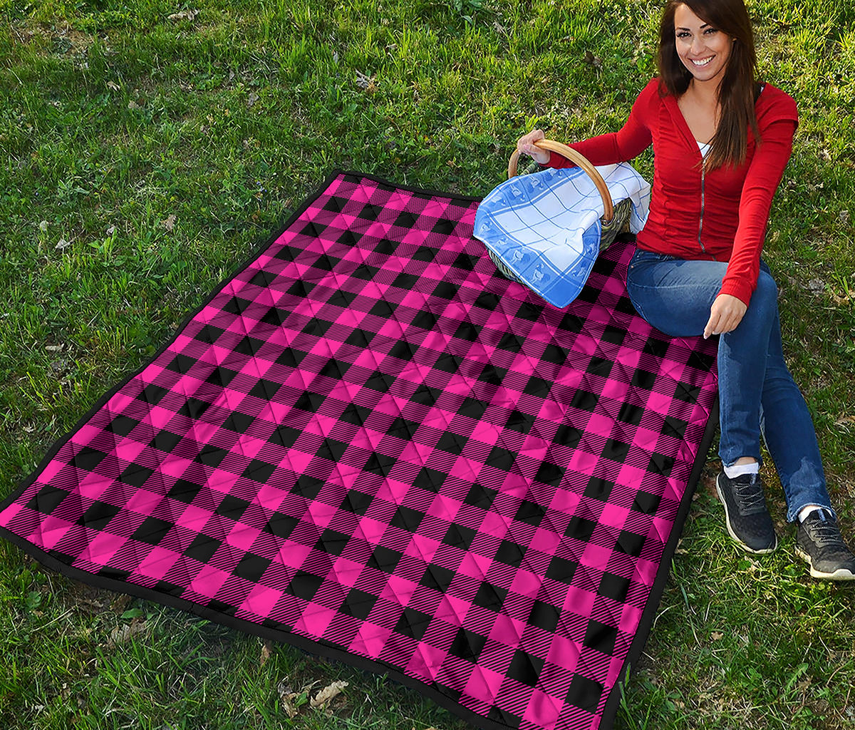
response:
{"label": "blue denim jeans worn by the seated woman", "polygon": [[[629,262],[629,298],[666,335],[702,335],[727,268],[639,249]],[[809,504],[833,512],[811,414],[784,362],[778,288],[764,262],[742,321],[718,338],[718,397],[722,463],[732,466],[743,456],[759,461],[762,434],[784,488],[787,519]]]}

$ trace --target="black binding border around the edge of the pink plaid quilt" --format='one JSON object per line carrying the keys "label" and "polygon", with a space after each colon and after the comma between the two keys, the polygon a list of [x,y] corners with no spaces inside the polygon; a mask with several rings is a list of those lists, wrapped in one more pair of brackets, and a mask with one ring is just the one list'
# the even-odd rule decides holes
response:
{"label": "black binding border around the edge of the pink plaid quilt", "polygon": [[[38,474],[44,471],[44,468],[48,466],[50,460],[52,460],[54,456],[56,456],[56,453],[65,445],[66,442],[68,442],[68,439],[70,439],[74,435],[74,433],[80,430],[80,428],[97,411],[99,411],[107,403],[107,401],[109,401],[109,399],[113,397],[113,395],[115,395],[121,388],[123,388],[127,383],[129,383],[133,377],[137,376],[141,371],[148,367],[148,365],[154,362],[155,359],[160,357],[161,353],[163,353],[169,347],[169,345],[174,342],[178,335],[180,335],[181,331],[186,328],[186,326],[192,321],[192,319],[196,317],[196,315],[198,315],[198,313],[201,312],[205,306],[208,306],[210,301],[214,300],[215,296],[221,292],[221,289],[225,287],[228,282],[231,282],[236,276],[239,276],[251,264],[253,264],[256,259],[261,256],[262,253],[265,252],[268,247],[271,246],[274,241],[280,237],[281,234],[285,233],[286,229],[289,228],[291,224],[298,219],[298,217],[303,215],[303,213],[309,209],[310,205],[321,196],[321,193],[323,193],[327,189],[327,187],[329,187],[332,182],[337,177],[339,177],[339,175],[353,175],[357,178],[363,178],[380,183],[381,185],[388,185],[391,187],[400,188],[402,190],[407,190],[410,193],[435,195],[437,197],[451,198],[467,203],[472,203],[481,200],[481,197],[479,196],[449,193],[448,191],[431,190],[428,188],[416,187],[411,185],[401,185],[397,182],[388,181],[377,175],[371,175],[369,173],[355,172],[338,168],[333,169],[333,171],[329,175],[327,175],[327,178],[321,183],[321,185],[316,187],[315,190],[304,199],[303,204],[300,205],[295,211],[293,211],[291,216],[287,217],[284,223],[280,223],[280,225],[275,228],[275,230],[277,231],[276,233],[269,235],[267,238],[263,239],[260,244],[254,246],[249,256],[245,258],[245,260],[242,261],[240,264],[238,264],[238,266],[236,266],[235,269],[226,278],[224,278],[221,282],[215,285],[215,287],[211,290],[211,294],[205,300],[203,300],[202,304],[198,306],[197,309],[188,314],[186,318],[184,318],[180,322],[180,324],[174,329],[174,333],[164,341],[162,347],[160,347],[160,349],[158,349],[157,352],[150,357],[150,359],[148,359],[143,365],[140,365],[135,370],[129,372],[125,377],[121,378],[119,383],[117,383],[113,388],[109,389],[107,393],[105,393],[100,399],[98,399],[98,401],[87,412],[85,412],[85,414],[77,421],[77,423],[74,424],[71,430],[68,430],[67,433],[56,439],[56,441],[48,449],[47,454],[44,455],[44,459],[42,459],[38,466],[32,471],[32,473],[29,474],[29,476],[27,476],[27,478],[25,478],[21,482],[21,485],[18,487],[18,489],[12,490],[11,494],[5,500],[3,500],[3,502],[0,502],[0,511],[6,509],[6,507],[9,507],[10,504],[15,502],[15,500],[19,496],[21,496],[21,494],[25,490],[27,490],[27,487],[32,484]],[[668,543],[665,544],[665,547],[663,549],[662,561],[660,561],[659,567],[657,567],[656,578],[653,580],[650,595],[648,596],[646,606],[642,611],[638,629],[635,632],[632,644],[630,644],[629,646],[629,651],[626,659],[624,660],[623,667],[621,668],[621,673],[618,677],[618,680],[612,687],[612,690],[609,693],[609,698],[606,700],[606,703],[604,705],[603,714],[600,717],[599,723],[600,730],[608,730],[608,728],[611,727],[611,724],[615,719],[617,709],[620,706],[622,700],[623,680],[625,677],[628,676],[628,672],[626,671],[627,665],[629,666],[631,672],[636,662],[638,662],[642,650],[644,650],[647,636],[650,633],[652,627],[654,616],[659,606],[659,602],[662,600],[665,585],[668,582],[671,561],[674,558],[677,542],[681,537],[683,526],[685,525],[689,509],[692,506],[692,496],[695,488],[697,487],[701,470],[704,467],[706,454],[710,449],[713,436],[715,435],[717,423],[718,401],[716,399],[716,402],[711,408],[710,417],[707,420],[704,436],[701,438],[701,442],[699,444],[698,453],[695,454],[692,472],[689,475],[686,490],[683,493],[680,507],[677,510],[677,516],[675,519],[674,527],[672,528],[671,533],[669,535]],[[361,669],[371,674],[386,674],[386,676],[388,676],[390,679],[402,685],[408,686],[411,689],[420,692],[426,697],[429,697],[433,700],[433,702],[439,704],[440,707],[448,709],[453,714],[461,717],[464,721],[467,721],[472,725],[482,727],[484,728],[484,730],[508,730],[509,728],[509,726],[504,725],[504,723],[491,720],[490,718],[484,715],[479,715],[473,710],[463,707],[463,705],[454,702],[453,700],[451,700],[451,698],[446,697],[444,694],[434,689],[433,687],[426,685],[422,681],[416,680],[410,677],[409,675],[404,674],[404,672],[400,671],[398,668],[388,666],[383,662],[375,662],[374,660],[366,659],[362,656],[355,656],[350,652],[340,649],[337,645],[329,644],[325,641],[315,641],[310,638],[305,638],[299,634],[283,631],[282,629],[274,629],[269,626],[262,626],[261,624],[253,623],[252,621],[239,619],[234,616],[228,616],[226,614],[221,614],[217,611],[208,608],[207,606],[187,601],[186,599],[179,598],[177,596],[169,596],[168,594],[163,594],[154,591],[142,585],[125,583],[124,581],[106,578],[95,573],[87,573],[84,570],[80,570],[80,568],[75,568],[61,561],[58,561],[52,555],[44,552],[44,550],[28,542],[24,537],[16,535],[14,532],[7,530],[3,526],[0,526],[0,535],[9,540],[10,543],[17,545],[25,553],[27,553],[27,555],[31,555],[37,561],[42,563],[45,567],[49,567],[51,570],[55,571],[56,573],[61,573],[69,579],[77,580],[80,583],[92,585],[96,588],[103,588],[108,591],[124,593],[129,596],[142,598],[146,601],[160,603],[161,605],[168,606],[170,608],[178,608],[181,611],[185,611],[190,614],[195,614],[202,619],[213,621],[214,623],[221,624],[222,626],[227,626],[228,628],[236,629],[239,632],[244,632],[272,641],[291,644],[292,646],[296,646],[298,649],[304,650],[310,654],[324,656],[327,659],[333,659],[335,661],[342,662],[351,667]]]}

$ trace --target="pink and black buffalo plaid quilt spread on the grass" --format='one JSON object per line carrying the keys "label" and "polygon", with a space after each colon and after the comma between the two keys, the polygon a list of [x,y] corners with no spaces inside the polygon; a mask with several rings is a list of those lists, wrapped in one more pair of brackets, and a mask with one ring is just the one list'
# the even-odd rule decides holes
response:
{"label": "pink and black buffalo plaid quilt spread on the grass", "polygon": [[608,727],[711,439],[711,342],[499,276],[477,199],[334,173],[0,508],[93,585],[388,673],[485,728]]}

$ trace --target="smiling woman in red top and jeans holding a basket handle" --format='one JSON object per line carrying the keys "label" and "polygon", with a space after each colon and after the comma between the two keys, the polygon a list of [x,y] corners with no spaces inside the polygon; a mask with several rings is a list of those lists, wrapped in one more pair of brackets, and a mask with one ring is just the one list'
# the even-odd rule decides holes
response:
{"label": "smiling woman in red top and jeans holding a basket handle", "polygon": [[[757,78],[743,0],[671,0],[659,26],[659,76],[623,128],[570,145],[595,165],[650,145],[650,215],[627,288],[642,317],[674,336],[719,335],[723,470],[716,491],[728,534],[747,552],[778,546],[759,476],[764,436],[798,520],[796,553],[820,579],[855,580],[855,555],[831,507],[811,415],[781,348],[777,288],[761,261],[769,209],[793,149],[793,98]],[[535,129],[517,149],[551,167]]]}

